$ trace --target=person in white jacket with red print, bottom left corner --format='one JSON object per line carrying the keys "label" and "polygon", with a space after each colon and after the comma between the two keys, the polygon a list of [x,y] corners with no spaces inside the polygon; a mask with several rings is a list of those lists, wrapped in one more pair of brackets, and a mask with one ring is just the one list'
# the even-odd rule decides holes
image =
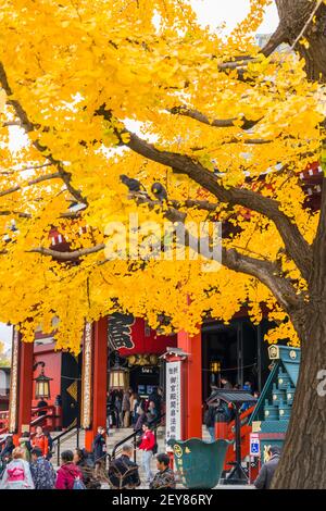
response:
{"label": "person in white jacket with red print, bottom left corner", "polygon": [[12,461],[5,466],[0,489],[34,489],[29,464],[24,460],[24,450],[21,447],[12,452]]}

